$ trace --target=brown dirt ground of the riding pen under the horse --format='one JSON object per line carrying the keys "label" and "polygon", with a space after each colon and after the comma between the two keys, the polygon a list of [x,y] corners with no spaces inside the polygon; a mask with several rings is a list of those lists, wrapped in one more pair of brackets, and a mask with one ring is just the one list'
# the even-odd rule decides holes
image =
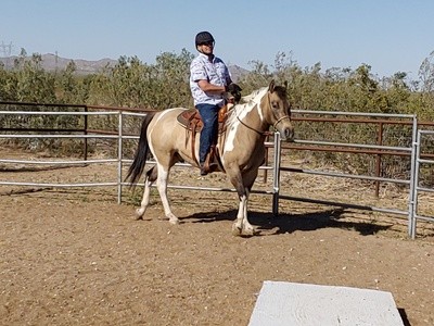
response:
{"label": "brown dirt ground of the riding pen under the horse", "polygon": [[[111,173],[97,166],[0,176],[73,183]],[[173,181],[225,183],[221,174],[197,175],[182,170]],[[379,201],[353,183],[283,176],[282,188]],[[23,189],[0,187],[0,325],[247,325],[264,280],[390,291],[405,325],[434,325],[432,225],[410,240],[406,221],[295,201],[281,203],[275,217],[270,197],[252,195],[260,235],[242,238],[231,235],[231,192],[170,189],[182,221],[174,226],[161,220],[155,191],[144,221],[135,221],[137,198],[127,189],[120,205],[111,188]],[[406,204],[391,188],[381,199]]]}

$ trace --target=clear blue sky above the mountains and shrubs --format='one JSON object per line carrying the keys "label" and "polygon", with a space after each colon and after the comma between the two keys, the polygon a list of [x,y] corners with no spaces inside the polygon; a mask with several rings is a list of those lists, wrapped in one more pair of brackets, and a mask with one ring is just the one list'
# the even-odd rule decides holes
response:
{"label": "clear blue sky above the mountains and shrubs", "polygon": [[0,11],[0,45],[12,42],[12,54],[152,64],[162,52],[196,53],[195,34],[209,30],[215,53],[245,68],[292,52],[302,67],[367,63],[380,77],[416,79],[434,51],[433,0],[1,0]]}

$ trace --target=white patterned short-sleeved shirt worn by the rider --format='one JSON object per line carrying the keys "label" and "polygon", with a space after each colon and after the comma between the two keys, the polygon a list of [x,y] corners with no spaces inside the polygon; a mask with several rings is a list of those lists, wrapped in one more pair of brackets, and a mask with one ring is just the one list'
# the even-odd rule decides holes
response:
{"label": "white patterned short-sleeved shirt worn by the rider", "polygon": [[217,57],[214,57],[213,62],[209,62],[207,55],[200,53],[190,65],[190,89],[194,105],[213,104],[221,106],[224,104],[224,96],[203,91],[197,85],[199,80],[208,80],[208,83],[218,86],[228,85],[230,74],[225,62]]}

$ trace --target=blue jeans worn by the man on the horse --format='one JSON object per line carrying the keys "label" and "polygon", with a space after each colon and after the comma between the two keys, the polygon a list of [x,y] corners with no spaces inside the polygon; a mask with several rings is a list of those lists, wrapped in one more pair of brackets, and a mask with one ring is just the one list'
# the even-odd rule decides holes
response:
{"label": "blue jeans worn by the man on the horse", "polygon": [[205,162],[210,146],[217,143],[218,110],[220,110],[220,106],[213,104],[197,104],[196,109],[199,110],[204,124],[199,145],[199,162],[202,164]]}

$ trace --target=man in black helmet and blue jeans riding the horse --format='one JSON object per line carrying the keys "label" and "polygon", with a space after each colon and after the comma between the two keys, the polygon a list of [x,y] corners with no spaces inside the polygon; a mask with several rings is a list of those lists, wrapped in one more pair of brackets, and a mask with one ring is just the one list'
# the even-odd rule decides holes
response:
{"label": "man in black helmet and blue jeans riding the horse", "polygon": [[206,155],[216,142],[218,133],[218,110],[225,105],[225,92],[240,97],[241,88],[232,83],[229,70],[221,59],[214,55],[215,40],[208,32],[195,37],[200,52],[190,65],[190,89],[194,105],[203,121],[200,138],[199,163],[201,175],[208,174],[205,167]]}

